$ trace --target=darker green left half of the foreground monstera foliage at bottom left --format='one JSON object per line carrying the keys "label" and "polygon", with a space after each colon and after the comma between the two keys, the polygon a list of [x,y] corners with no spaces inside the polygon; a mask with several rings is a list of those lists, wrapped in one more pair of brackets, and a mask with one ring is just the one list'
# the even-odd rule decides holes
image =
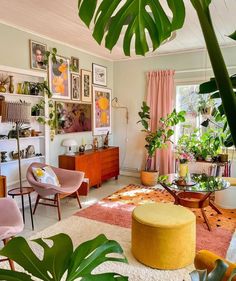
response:
{"label": "darker green left half of the foreground monstera foliage at bottom left", "polygon": [[[66,234],[58,234],[47,238],[53,241],[53,245],[48,245],[40,238],[34,240],[44,249],[43,260],[40,260],[29,247],[27,241],[23,237],[16,237],[10,240],[7,245],[0,250],[0,255],[10,258],[18,263],[29,273],[44,281],[59,281],[67,269],[69,258],[73,252],[71,239]],[[63,245],[63,251],[61,251]],[[17,249],[17,251],[15,250]]]}

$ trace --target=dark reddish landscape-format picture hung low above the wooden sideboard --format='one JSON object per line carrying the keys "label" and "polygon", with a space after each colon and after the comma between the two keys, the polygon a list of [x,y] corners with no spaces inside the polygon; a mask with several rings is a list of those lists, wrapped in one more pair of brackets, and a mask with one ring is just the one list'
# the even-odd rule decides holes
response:
{"label": "dark reddish landscape-format picture hung low above the wooden sideboard", "polygon": [[56,102],[57,133],[92,131],[92,105]]}

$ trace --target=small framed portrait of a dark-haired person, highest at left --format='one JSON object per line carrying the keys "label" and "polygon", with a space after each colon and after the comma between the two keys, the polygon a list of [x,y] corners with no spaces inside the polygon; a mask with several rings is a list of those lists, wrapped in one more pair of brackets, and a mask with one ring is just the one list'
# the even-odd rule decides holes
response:
{"label": "small framed portrait of a dark-haired person, highest at left", "polygon": [[47,45],[30,40],[30,67],[32,69],[47,71],[44,64]]}

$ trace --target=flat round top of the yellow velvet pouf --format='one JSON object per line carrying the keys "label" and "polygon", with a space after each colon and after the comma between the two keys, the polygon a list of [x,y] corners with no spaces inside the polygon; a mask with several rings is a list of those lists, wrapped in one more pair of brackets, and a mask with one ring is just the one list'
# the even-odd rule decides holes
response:
{"label": "flat round top of the yellow velvet pouf", "polygon": [[196,220],[195,215],[173,203],[150,203],[136,207],[132,214],[138,222],[165,228],[178,227]]}

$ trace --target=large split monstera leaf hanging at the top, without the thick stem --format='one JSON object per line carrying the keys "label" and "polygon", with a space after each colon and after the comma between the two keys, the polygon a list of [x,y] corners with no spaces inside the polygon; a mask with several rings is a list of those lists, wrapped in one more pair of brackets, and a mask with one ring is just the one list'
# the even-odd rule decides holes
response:
{"label": "large split monstera leaf hanging at the top, without the thick stem", "polygon": [[120,35],[124,32],[124,53],[130,55],[131,41],[135,37],[136,54],[144,55],[149,51],[147,33],[155,50],[182,27],[185,18],[183,0],[167,0],[172,12],[170,19],[156,0],[79,0],[79,16],[87,26],[94,19],[93,37],[101,44],[105,37],[105,46],[112,50]]}

